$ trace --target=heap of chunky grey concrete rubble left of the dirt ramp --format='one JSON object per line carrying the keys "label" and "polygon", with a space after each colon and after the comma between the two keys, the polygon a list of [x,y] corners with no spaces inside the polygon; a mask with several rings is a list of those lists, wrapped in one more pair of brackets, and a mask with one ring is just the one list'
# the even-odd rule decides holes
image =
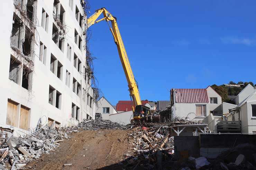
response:
{"label": "heap of chunky grey concrete rubble left of the dirt ramp", "polygon": [[[63,141],[68,139],[64,128],[51,126],[38,126],[30,135],[23,137],[10,136],[0,149],[0,169],[22,169],[34,159],[38,159],[43,153],[49,154]],[[9,165],[8,165],[9,164]]]}

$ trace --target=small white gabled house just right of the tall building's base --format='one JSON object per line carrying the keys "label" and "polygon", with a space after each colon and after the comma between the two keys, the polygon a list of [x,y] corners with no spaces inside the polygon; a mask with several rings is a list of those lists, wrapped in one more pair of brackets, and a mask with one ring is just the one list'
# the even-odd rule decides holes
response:
{"label": "small white gabled house just right of the tall building's base", "polygon": [[98,101],[98,107],[96,108],[96,113],[101,114],[103,120],[109,120],[109,115],[118,113],[113,105],[105,98],[101,97]]}

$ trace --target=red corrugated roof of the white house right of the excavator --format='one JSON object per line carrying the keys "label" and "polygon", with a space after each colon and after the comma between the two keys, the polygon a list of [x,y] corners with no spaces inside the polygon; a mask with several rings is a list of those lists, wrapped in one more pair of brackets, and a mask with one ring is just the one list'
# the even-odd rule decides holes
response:
{"label": "red corrugated roof of the white house right of the excavator", "polygon": [[176,88],[174,90],[176,103],[209,103],[205,88]]}

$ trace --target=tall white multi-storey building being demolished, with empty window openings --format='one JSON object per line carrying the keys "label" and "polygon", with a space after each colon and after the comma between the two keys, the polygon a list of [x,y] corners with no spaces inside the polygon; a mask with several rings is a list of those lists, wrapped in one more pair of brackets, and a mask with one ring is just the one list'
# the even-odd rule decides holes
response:
{"label": "tall white multi-storey building being demolished, with empty window openings", "polygon": [[2,1],[2,7],[0,124],[29,132],[40,118],[58,126],[94,118],[80,0]]}

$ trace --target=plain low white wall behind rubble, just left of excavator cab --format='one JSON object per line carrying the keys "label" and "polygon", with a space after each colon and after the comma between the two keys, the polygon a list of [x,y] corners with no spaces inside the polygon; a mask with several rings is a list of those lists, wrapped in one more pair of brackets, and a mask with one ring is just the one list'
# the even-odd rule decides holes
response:
{"label": "plain low white wall behind rubble, just left of excavator cab", "polygon": [[109,115],[110,120],[122,125],[130,124],[130,120],[133,118],[133,113],[131,111],[124,111],[117,114]]}

